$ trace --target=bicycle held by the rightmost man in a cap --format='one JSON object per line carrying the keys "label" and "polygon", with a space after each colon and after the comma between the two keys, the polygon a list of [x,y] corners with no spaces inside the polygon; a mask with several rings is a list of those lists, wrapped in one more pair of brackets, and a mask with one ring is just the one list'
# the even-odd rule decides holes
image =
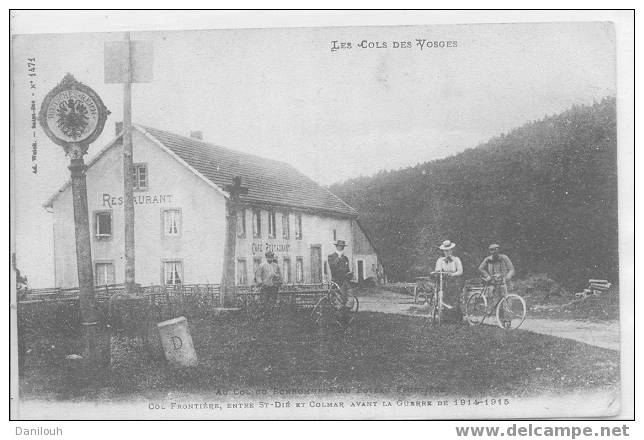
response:
{"label": "bicycle held by the rightmost man in a cap", "polygon": [[[484,280],[485,281],[485,280]],[[503,289],[503,295],[492,308],[488,308],[488,297],[491,288]],[[492,301],[493,298],[490,298]],[[503,277],[493,277],[485,282],[483,291],[472,294],[465,303],[465,316],[470,325],[481,325],[493,314],[497,325],[504,329],[517,329],[525,321],[525,300],[516,293],[508,293],[508,286]]]}

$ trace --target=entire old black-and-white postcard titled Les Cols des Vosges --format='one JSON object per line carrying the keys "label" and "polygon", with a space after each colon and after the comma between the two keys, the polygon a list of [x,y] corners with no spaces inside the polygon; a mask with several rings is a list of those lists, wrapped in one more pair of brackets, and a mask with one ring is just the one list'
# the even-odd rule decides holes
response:
{"label": "entire old black-and-white postcard titled Les Cols des Vosges", "polygon": [[12,36],[13,419],[632,408],[614,22],[137,29]]}

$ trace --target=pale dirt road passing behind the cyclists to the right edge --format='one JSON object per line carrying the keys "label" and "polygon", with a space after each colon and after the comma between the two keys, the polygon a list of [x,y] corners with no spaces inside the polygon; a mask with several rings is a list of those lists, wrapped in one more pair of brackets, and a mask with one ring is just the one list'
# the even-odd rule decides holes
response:
{"label": "pale dirt road passing behind the cyclists to the right edge", "polygon": [[[423,316],[420,305],[414,304],[409,295],[391,291],[370,292],[360,296],[360,310],[368,312],[395,313],[408,316]],[[521,326],[531,331],[559,338],[573,339],[597,347],[619,351],[619,322],[590,322],[530,318]]]}

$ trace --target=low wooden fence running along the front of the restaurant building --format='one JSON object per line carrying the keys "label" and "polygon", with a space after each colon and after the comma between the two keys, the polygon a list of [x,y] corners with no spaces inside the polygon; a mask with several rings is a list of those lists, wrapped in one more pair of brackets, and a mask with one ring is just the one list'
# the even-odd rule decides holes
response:
{"label": "low wooden fence running along the front of the restaurant building", "polygon": [[[251,286],[237,286],[234,304],[242,309],[241,317],[254,319],[276,316],[289,309],[310,308],[327,291],[327,284],[289,284],[267,301]],[[125,295],[122,284],[95,288],[97,318],[114,330],[140,334],[157,322],[177,316],[207,318],[218,313],[220,286],[184,284],[179,286],[142,286],[137,295]],[[81,328],[76,289],[31,289],[18,295],[18,333],[75,334]]]}

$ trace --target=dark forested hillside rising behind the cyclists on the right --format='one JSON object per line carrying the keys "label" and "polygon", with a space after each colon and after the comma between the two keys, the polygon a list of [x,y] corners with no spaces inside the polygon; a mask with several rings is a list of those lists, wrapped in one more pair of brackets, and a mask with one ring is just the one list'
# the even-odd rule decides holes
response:
{"label": "dark forested hillside rising behind the cyclists on the right", "polygon": [[605,98],[330,190],[358,210],[390,280],[427,274],[450,239],[467,278],[498,242],[519,276],[617,283],[616,136],[615,99]]}

